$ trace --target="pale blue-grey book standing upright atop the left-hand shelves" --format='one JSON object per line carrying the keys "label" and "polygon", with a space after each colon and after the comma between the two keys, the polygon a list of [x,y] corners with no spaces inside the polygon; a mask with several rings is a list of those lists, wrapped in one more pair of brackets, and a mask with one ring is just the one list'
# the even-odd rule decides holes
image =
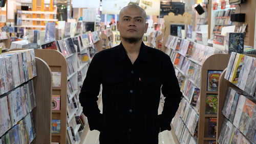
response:
{"label": "pale blue-grey book standing upright atop the left-hand shelves", "polygon": [[46,23],[46,35],[45,42],[50,42],[55,40],[55,22],[47,22]]}

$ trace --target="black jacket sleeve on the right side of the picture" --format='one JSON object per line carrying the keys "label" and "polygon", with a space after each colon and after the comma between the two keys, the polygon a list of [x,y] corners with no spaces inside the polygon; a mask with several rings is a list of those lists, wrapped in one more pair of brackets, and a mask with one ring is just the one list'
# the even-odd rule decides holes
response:
{"label": "black jacket sleeve on the right side of the picture", "polygon": [[182,98],[180,86],[170,57],[163,61],[162,94],[165,97],[162,114],[158,115],[161,132],[170,130],[170,123],[179,108]]}

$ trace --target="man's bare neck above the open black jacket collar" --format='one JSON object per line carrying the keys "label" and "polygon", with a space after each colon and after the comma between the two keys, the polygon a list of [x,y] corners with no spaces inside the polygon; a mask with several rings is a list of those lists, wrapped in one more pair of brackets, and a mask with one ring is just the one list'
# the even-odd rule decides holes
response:
{"label": "man's bare neck above the open black jacket collar", "polygon": [[122,40],[122,45],[128,55],[129,54],[139,54],[141,43],[142,43],[142,40],[139,40],[136,43],[129,43],[129,42]]}

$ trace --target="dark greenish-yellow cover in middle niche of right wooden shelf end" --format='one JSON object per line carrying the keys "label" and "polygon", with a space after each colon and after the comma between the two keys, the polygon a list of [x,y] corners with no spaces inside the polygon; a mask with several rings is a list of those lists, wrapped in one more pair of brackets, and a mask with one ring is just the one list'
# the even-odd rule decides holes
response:
{"label": "dark greenish-yellow cover in middle niche of right wooden shelf end", "polygon": [[217,114],[218,111],[218,95],[206,94],[205,114]]}

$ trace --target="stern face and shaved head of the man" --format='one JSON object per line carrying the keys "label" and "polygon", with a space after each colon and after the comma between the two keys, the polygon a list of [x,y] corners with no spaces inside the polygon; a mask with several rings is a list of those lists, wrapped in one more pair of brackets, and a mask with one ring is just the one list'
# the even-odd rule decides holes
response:
{"label": "stern face and shaved head of the man", "polygon": [[148,23],[140,9],[126,8],[122,11],[117,22],[117,30],[121,38],[125,39],[142,39],[147,31]]}

